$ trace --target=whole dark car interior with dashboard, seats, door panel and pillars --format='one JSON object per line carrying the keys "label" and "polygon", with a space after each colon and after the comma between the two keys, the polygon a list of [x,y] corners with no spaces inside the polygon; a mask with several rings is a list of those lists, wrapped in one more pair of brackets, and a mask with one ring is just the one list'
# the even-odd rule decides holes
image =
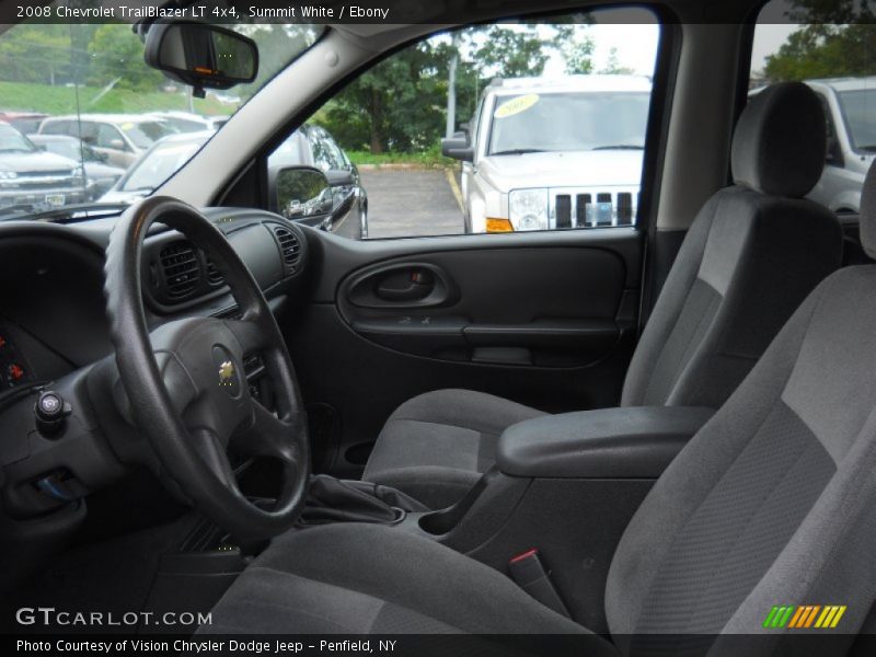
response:
{"label": "whole dark car interior with dashboard, seats, door panel and pillars", "polygon": [[868,654],[876,171],[860,215],[807,198],[822,103],[748,95],[764,2],[637,3],[635,226],[349,240],[272,211],[275,148],[429,35],[573,9],[385,4],[405,21],[326,25],[124,212],[0,221],[0,626]]}

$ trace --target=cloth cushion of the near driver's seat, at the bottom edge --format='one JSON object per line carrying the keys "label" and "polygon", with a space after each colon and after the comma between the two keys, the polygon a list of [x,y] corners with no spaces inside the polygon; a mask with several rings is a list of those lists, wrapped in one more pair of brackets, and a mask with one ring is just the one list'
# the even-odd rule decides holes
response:
{"label": "cloth cushion of the near driver's seat, at the bottom edge", "polygon": [[[508,577],[399,527],[339,523],[276,539],[226,592],[201,633],[579,634]],[[592,639],[589,646],[587,637]]]}

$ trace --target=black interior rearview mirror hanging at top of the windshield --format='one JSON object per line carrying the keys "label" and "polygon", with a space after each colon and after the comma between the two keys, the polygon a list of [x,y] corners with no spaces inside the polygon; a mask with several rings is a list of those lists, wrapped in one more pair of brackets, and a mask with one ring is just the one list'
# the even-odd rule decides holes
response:
{"label": "black interior rearview mirror hanging at top of the windshield", "polygon": [[258,73],[258,47],[242,34],[205,23],[154,23],[146,37],[146,64],[172,80],[205,89],[230,89]]}

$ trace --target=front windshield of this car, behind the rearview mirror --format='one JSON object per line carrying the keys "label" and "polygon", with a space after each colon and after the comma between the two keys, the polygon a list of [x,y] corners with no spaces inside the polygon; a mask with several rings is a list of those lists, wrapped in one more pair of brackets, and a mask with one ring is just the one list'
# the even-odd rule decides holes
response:
{"label": "front windshield of this car, behind the rearview mirror", "polygon": [[[46,206],[134,203],[145,195],[119,198],[123,191],[151,193],[197,152],[216,127],[315,43],[324,28],[307,24],[223,26],[255,41],[258,74],[249,84],[207,90],[205,97],[148,67],[143,42],[127,23],[23,22],[2,32],[0,219],[26,216],[27,208],[39,211]],[[10,125],[13,118],[24,117],[30,122],[24,131],[35,136],[38,148],[23,130]],[[198,135],[198,139],[162,141],[184,134]],[[49,136],[58,142],[49,142]],[[80,148],[78,140],[85,148]],[[58,169],[59,155],[83,165],[101,162],[128,174],[113,188],[94,166],[85,166],[84,175],[71,165],[68,177],[41,177],[41,172]]]}

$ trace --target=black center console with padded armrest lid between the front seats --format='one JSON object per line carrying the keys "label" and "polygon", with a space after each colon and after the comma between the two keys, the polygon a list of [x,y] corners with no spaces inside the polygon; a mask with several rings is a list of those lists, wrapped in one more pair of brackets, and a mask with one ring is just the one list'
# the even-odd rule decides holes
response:
{"label": "black center console with padded armrest lid between the front seats", "polygon": [[395,531],[430,537],[500,572],[538,550],[569,615],[607,632],[603,595],[626,526],[654,482],[712,416],[701,407],[629,407],[522,422],[496,465],[454,506],[408,511]]}

